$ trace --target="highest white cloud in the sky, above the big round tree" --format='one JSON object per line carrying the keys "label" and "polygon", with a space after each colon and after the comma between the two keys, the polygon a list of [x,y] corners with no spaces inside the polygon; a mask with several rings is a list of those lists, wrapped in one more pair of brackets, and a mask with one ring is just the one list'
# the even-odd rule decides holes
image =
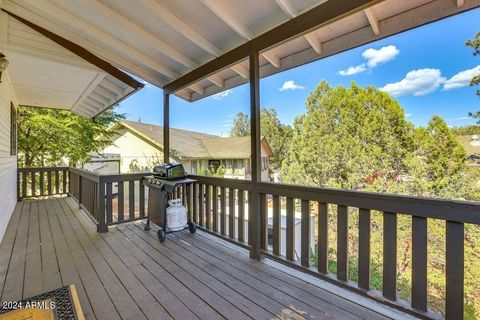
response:
{"label": "highest white cloud in the sky, above the big round tree", "polygon": [[363,59],[366,60],[365,63],[359,64],[358,66],[351,66],[346,70],[340,70],[338,74],[341,76],[353,76],[354,74],[365,72],[367,67],[373,69],[379,64],[391,61],[399,54],[400,50],[393,45],[382,47],[378,50],[370,48],[362,53]]}

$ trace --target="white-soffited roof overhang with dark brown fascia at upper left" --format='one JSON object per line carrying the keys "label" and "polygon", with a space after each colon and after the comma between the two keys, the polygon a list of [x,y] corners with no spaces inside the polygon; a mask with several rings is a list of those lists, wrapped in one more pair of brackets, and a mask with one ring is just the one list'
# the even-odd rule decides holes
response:
{"label": "white-soffited roof overhang with dark brown fascia at upper left", "polygon": [[0,12],[0,51],[19,105],[69,110],[94,118],[143,87],[78,45]]}

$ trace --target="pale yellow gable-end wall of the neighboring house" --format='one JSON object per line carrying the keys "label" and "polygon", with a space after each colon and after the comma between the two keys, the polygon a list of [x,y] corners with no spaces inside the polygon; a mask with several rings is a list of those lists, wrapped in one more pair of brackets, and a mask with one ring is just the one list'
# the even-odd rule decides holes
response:
{"label": "pale yellow gable-end wall of the neighboring house", "polygon": [[112,141],[113,143],[100,153],[120,154],[121,173],[151,171],[154,164],[163,162],[163,152],[159,147],[129,130],[119,130]]}

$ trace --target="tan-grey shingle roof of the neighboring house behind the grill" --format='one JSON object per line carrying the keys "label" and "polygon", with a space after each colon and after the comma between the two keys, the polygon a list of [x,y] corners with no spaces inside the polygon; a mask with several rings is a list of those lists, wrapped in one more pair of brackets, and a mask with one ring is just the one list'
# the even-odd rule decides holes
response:
{"label": "tan-grey shingle roof of the neighboring house behind the grill", "polygon": [[[163,146],[163,127],[124,120],[127,129]],[[250,137],[219,137],[211,134],[170,128],[170,147],[182,158],[246,159],[250,157]]]}

